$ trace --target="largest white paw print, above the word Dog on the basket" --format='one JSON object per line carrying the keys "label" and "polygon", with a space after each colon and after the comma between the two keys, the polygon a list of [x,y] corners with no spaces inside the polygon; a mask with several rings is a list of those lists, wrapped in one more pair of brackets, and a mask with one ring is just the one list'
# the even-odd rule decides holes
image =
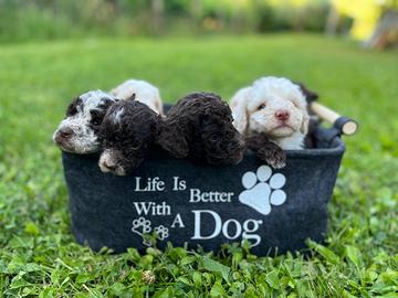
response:
{"label": "largest white paw print, above the word Dog on the basket", "polygon": [[286,178],[283,174],[272,174],[269,166],[261,166],[255,173],[243,174],[242,184],[245,190],[239,194],[239,201],[268,215],[271,205],[282,205],[286,201],[286,193],[281,190],[285,183]]}

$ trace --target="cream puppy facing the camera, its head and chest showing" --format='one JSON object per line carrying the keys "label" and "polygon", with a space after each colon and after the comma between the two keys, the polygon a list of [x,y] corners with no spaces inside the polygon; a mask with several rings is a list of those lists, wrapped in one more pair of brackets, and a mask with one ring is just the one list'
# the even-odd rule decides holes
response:
{"label": "cream puppy facing the camera, its head and chest showing", "polygon": [[306,105],[298,85],[273,76],[238,91],[230,104],[233,125],[242,135],[263,134],[284,150],[304,146],[310,119]]}

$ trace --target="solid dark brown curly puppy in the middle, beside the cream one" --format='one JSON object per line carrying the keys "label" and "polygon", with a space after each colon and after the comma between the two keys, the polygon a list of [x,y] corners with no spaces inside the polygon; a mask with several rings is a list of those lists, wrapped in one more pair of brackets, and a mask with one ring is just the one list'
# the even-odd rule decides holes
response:
{"label": "solid dark brown curly puppy in the middle, beside the cream one", "polygon": [[176,158],[210,164],[235,164],[243,158],[244,142],[232,125],[231,109],[216,94],[185,96],[159,126],[157,143]]}

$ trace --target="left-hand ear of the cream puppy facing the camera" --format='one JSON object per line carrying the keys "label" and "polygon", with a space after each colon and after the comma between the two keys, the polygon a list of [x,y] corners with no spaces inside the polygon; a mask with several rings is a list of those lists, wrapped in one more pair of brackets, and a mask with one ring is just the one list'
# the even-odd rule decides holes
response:
{"label": "left-hand ear of the cream puppy facing the camera", "polygon": [[233,126],[240,134],[244,134],[248,129],[248,99],[251,88],[240,89],[231,99],[231,110],[233,117]]}

